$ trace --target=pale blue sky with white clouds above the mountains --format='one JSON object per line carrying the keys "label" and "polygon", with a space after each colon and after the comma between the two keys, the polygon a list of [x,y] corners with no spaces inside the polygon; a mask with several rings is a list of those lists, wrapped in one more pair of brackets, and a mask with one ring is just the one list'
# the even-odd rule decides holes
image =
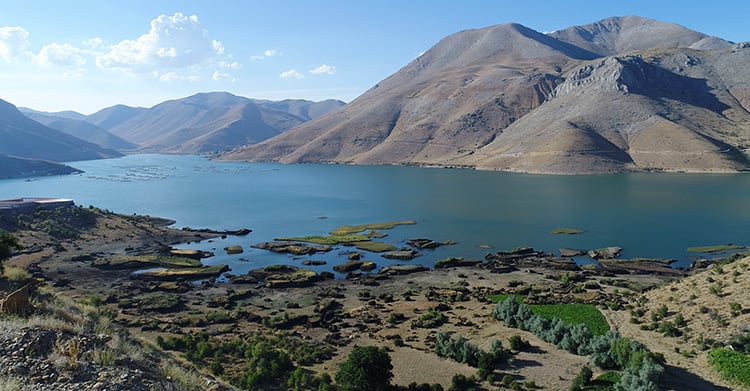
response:
{"label": "pale blue sky with white clouds above the mountains", "polygon": [[0,0],[0,99],[91,114],[199,92],[349,102],[440,39],[640,15],[750,41],[750,1]]}

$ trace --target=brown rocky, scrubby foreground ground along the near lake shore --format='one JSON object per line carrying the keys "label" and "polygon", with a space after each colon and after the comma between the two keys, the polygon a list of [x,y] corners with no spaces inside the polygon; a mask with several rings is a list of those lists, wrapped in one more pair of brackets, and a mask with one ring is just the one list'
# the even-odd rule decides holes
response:
{"label": "brown rocky, scrubby foreground ground along the near lake shore", "polygon": [[[179,376],[169,375],[165,369],[175,368],[176,362],[183,367],[190,364],[179,352],[159,349],[157,340],[202,331],[221,340],[263,334],[294,344],[330,349],[333,352],[330,358],[303,366],[313,374],[334,374],[354,346],[385,346],[393,361],[395,384],[439,383],[446,389],[455,374],[469,376],[476,373],[476,368],[437,357],[433,345],[438,331],[464,336],[483,348],[493,339],[507,346],[510,336],[519,335],[533,348],[516,352],[512,362],[499,369],[497,378],[509,375],[527,388],[534,385],[540,389],[567,389],[586,364],[586,358],[492,319],[493,304],[487,295],[494,293],[523,293],[536,302],[597,304],[604,309],[613,328],[666,356],[666,378],[671,379],[668,388],[685,389],[684,379],[690,379],[691,389],[734,387],[706,365],[705,353],[695,356],[675,353],[675,347],[686,349],[684,340],[641,330],[638,324],[631,323],[630,312],[625,308],[643,307],[644,313],[640,315],[643,323],[648,323],[650,313],[656,311],[652,307],[663,302],[669,306],[670,316],[683,311],[677,307],[678,303],[685,308],[703,305],[723,311],[724,304],[705,302],[710,295],[701,293],[688,299],[689,292],[696,289],[708,292],[707,277],[711,277],[713,284],[723,281],[726,293],[723,297],[727,300],[741,295],[735,289],[741,289],[746,282],[747,266],[744,269],[737,266],[736,270],[725,266],[718,276],[711,274],[716,273],[714,269],[687,279],[674,279],[672,275],[653,273],[601,274],[546,258],[535,261],[525,258],[509,264],[508,255],[499,254],[498,258],[506,257],[502,267],[489,267],[484,262],[473,267],[405,275],[372,273],[350,280],[324,279],[305,286],[276,284],[274,288],[252,278],[198,284],[153,281],[134,278],[132,270],[95,265],[97,260],[155,254],[172,244],[222,233],[171,230],[153,224],[150,219],[102,211],[95,214],[95,222],[74,239],[57,239],[32,229],[33,224],[15,231],[25,250],[7,262],[7,266],[25,269],[34,278],[43,280],[46,288],[40,288],[42,292],[69,303],[66,308],[73,308],[73,314],[83,314],[80,316],[84,318],[86,314],[95,314],[94,318],[104,319],[93,325],[90,321],[63,322],[78,325],[72,329],[59,326],[58,321],[52,324],[2,321],[0,377],[26,384],[23,389],[190,389],[175,385]],[[627,273],[630,272],[633,271]],[[38,310],[45,307],[38,301],[34,303]],[[604,303],[612,309],[606,310]],[[740,305],[750,308],[750,303]],[[726,307],[729,308],[728,304]],[[444,322],[435,327],[418,326],[431,309],[438,309]],[[687,334],[691,343],[701,334],[719,340],[731,334],[727,330],[740,331],[748,320],[744,312],[737,316],[719,313],[729,322],[725,334],[721,334],[720,328],[712,328],[700,320],[700,312],[683,312],[689,321]],[[106,327],[101,326],[102,322]],[[121,334],[128,335],[127,340],[132,340],[132,344],[122,342]],[[138,353],[133,354],[134,351]],[[242,369],[241,363],[223,364],[225,376]],[[230,387],[222,380],[207,381],[212,378],[210,372],[205,367],[199,370],[201,375],[193,374],[190,381],[193,389]],[[189,371],[180,373],[185,377]],[[499,386],[483,383],[487,389]]]}

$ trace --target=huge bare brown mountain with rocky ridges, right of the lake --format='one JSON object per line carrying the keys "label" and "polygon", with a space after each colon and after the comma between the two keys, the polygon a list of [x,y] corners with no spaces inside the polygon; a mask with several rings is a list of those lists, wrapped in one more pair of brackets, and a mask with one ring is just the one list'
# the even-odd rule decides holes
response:
{"label": "huge bare brown mountain with rocky ridges, right of the lake", "polygon": [[747,46],[637,16],[462,31],[343,108],[221,159],[745,170]]}

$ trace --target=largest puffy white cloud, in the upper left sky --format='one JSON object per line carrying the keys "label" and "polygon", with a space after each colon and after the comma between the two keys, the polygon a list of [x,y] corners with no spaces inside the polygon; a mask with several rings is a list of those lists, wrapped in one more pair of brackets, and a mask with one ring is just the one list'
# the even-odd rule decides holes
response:
{"label": "largest puffy white cloud, in the upper left sky", "polygon": [[96,57],[96,64],[100,68],[150,72],[200,65],[216,60],[224,51],[221,42],[208,37],[196,15],[178,12],[152,20],[148,33],[112,46]]}

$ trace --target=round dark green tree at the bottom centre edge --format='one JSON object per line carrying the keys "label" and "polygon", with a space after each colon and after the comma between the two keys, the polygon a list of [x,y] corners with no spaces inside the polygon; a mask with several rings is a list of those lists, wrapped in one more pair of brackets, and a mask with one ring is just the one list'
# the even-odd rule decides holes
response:
{"label": "round dark green tree at the bottom centre edge", "polygon": [[356,346],[336,372],[336,384],[341,391],[387,390],[392,370],[391,357],[385,348]]}

